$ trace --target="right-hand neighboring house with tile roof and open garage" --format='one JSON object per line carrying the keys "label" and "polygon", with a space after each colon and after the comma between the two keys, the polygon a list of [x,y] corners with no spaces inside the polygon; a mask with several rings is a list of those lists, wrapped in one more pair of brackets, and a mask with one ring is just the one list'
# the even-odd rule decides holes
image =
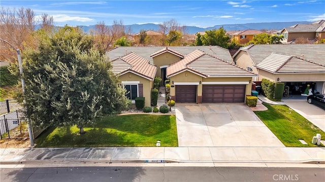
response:
{"label": "right-hand neighboring house with tile roof and open garage", "polygon": [[300,92],[309,84],[325,93],[324,50],[325,44],[249,45],[240,48],[233,58],[239,67],[258,75],[254,81],[265,78],[283,82]]}

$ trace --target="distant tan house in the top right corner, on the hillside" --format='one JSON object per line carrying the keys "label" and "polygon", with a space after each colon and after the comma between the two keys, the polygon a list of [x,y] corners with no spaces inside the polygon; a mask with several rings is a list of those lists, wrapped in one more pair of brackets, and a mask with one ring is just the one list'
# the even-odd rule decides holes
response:
{"label": "distant tan house in the top right corner, on the hillside", "polygon": [[282,43],[295,44],[297,39],[306,39],[309,43],[314,43],[325,39],[325,20],[319,20],[311,24],[296,24],[278,31],[283,35]]}

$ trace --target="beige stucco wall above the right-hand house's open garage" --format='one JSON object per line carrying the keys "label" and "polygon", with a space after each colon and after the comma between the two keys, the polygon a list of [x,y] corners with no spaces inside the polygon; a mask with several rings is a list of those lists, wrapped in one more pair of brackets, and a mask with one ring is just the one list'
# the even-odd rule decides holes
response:
{"label": "beige stucco wall above the right-hand house's open garage", "polygon": [[325,81],[325,74],[272,74],[271,72],[259,69],[258,81],[268,79],[277,82],[307,82],[307,81]]}

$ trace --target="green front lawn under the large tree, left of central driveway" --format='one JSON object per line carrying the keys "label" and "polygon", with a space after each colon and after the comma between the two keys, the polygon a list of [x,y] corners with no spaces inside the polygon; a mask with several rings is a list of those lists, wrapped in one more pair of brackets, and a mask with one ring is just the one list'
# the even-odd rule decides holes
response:
{"label": "green front lawn under the large tree, left of central driveway", "polygon": [[105,117],[86,126],[50,127],[37,139],[37,147],[178,147],[175,115],[121,115]]}

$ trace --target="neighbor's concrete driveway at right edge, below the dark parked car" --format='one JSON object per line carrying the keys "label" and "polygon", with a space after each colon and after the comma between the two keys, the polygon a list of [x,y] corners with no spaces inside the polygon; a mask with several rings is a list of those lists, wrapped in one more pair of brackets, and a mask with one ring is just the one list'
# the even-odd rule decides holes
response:
{"label": "neighbor's concrete driveway at right edge, below the dark parked car", "polygon": [[325,131],[325,111],[317,105],[309,104],[307,97],[304,100],[285,99],[283,103]]}

